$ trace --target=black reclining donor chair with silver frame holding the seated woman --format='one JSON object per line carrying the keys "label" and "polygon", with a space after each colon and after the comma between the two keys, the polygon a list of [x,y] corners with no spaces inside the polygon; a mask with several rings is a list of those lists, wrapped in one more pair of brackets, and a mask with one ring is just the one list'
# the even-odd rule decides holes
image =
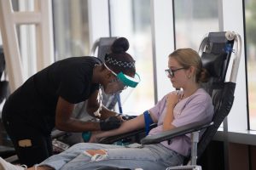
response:
{"label": "black reclining donor chair with silver frame holding the seated woman", "polygon": [[[183,166],[167,167],[167,169],[190,169],[199,170],[196,166],[197,158],[200,158],[207,145],[212,140],[218,127],[224,118],[230,113],[233,105],[236,88],[236,77],[241,59],[241,37],[236,32],[222,31],[210,32],[203,38],[199,49],[203,67],[210,74],[210,80],[202,84],[212,97],[214,105],[214,115],[211,122],[193,122],[188,125],[177,127],[170,131],[156,135],[146,136],[141,139],[141,144],[156,144],[164,140],[172,141],[173,138],[187,133],[191,133],[191,157],[183,162]],[[232,61],[232,64],[230,63]],[[231,68],[230,68],[231,66]],[[229,72],[230,71],[230,72]],[[230,73],[230,76],[227,76]],[[154,125],[152,125],[154,127]],[[204,129],[205,133],[199,139],[199,131]],[[131,135],[143,132],[144,129],[131,132]],[[130,133],[125,133],[122,137],[130,138]],[[101,143],[110,144],[121,140],[120,135],[102,139]],[[115,140],[116,139],[116,140]],[[102,167],[101,169],[104,169]],[[111,167],[106,167],[111,169]],[[113,169],[117,169],[113,167]]]}

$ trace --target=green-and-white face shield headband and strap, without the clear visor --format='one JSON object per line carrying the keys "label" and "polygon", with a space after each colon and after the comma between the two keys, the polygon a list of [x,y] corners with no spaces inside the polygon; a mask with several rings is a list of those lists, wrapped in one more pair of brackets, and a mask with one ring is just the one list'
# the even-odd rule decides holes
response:
{"label": "green-and-white face shield headband and strap, without the clear visor", "polygon": [[104,63],[105,67],[108,69],[108,71],[111,71],[114,76],[117,77],[116,81],[122,82],[124,85],[124,89],[127,87],[136,88],[137,84],[141,81],[139,75],[135,73],[134,77],[129,77],[125,75],[123,72],[119,72],[119,74],[116,74],[111,69],[108,68],[108,66]]}

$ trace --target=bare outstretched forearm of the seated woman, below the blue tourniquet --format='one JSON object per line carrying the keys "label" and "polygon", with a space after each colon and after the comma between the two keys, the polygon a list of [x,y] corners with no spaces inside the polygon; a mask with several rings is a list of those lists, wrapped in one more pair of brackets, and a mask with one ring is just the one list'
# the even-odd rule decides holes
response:
{"label": "bare outstretched forearm of the seated woman, below the blue tourniquet", "polygon": [[145,126],[144,116],[140,115],[129,121],[122,122],[119,128],[102,132],[102,133],[92,134],[89,142],[96,142],[96,140],[101,138],[106,138],[106,137],[110,137],[110,136],[114,136],[122,133],[128,133],[128,132],[143,128],[144,126]]}

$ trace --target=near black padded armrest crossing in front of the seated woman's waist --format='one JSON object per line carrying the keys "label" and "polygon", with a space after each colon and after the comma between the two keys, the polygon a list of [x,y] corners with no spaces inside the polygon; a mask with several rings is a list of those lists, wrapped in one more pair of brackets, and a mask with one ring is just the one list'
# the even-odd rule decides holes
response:
{"label": "near black padded armrest crossing in front of the seated woman's waist", "polygon": [[193,133],[199,131],[202,128],[210,127],[213,125],[213,122],[192,122],[187,125],[176,127],[172,130],[146,136],[141,140],[142,144],[157,144],[164,140],[170,140],[174,137],[181,136],[187,133]]}

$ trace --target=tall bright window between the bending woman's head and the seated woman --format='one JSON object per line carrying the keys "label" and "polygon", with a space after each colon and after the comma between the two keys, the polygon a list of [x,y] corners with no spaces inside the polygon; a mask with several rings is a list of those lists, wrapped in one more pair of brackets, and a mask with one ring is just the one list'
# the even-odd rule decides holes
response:
{"label": "tall bright window between the bending woman's head and the seated woman", "polygon": [[153,56],[150,27],[150,1],[111,0],[110,23],[113,37],[126,37],[128,53],[136,60],[141,82],[121,94],[125,114],[138,115],[154,106]]}

